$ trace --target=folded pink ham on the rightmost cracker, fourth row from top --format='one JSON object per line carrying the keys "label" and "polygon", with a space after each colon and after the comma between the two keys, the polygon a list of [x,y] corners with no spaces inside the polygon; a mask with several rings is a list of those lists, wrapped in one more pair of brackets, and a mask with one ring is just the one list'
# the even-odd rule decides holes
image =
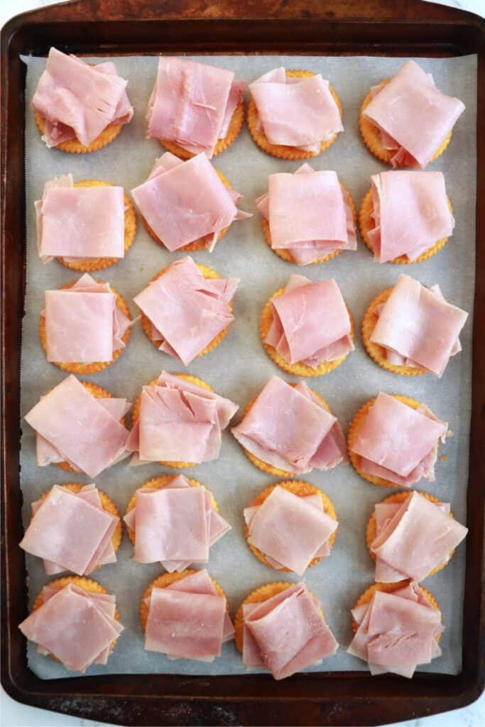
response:
{"label": "folded pink ham on the rightmost cracker, fourth row from top", "polygon": [[447,430],[426,407],[415,410],[381,392],[358,429],[352,451],[360,456],[364,472],[409,487],[421,477],[434,479],[438,440]]}

